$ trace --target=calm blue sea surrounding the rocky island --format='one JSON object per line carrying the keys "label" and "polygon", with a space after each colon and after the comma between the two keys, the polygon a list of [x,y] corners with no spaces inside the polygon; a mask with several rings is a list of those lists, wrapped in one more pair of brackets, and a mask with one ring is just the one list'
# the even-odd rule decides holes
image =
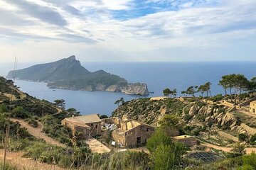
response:
{"label": "calm blue sea surrounding the rocky island", "polygon": [[[33,63],[19,63],[18,69],[33,65]],[[212,94],[223,93],[218,81],[225,74],[245,74],[248,79],[256,77],[256,62],[129,62],[129,63],[82,63],[91,72],[104,69],[111,74],[124,77],[127,81],[143,82],[148,85],[149,91],[154,91],[152,96],[163,96],[163,89],[176,88],[179,92],[186,90],[188,86],[196,86],[210,81]],[[12,64],[0,64],[0,75],[6,76]],[[138,96],[126,95],[107,91],[70,91],[48,89],[41,82],[16,80],[15,84],[36,98],[54,101],[63,98],[66,108],[75,108],[83,115],[100,113],[111,115],[117,108],[114,101],[123,97],[124,101],[130,101]]]}

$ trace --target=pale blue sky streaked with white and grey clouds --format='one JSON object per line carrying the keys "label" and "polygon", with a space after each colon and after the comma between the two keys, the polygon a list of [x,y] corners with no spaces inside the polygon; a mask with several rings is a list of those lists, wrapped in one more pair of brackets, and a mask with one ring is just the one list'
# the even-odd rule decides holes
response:
{"label": "pale blue sky streaked with white and grey clouds", "polygon": [[0,63],[256,61],[255,0],[0,0]]}

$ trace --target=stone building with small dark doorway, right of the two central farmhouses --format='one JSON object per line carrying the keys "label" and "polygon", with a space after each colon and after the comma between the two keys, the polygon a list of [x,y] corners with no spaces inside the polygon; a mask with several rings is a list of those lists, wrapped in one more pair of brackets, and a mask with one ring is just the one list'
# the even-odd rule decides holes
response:
{"label": "stone building with small dark doorway, right of the two central farmhouses", "polygon": [[117,127],[113,130],[112,137],[117,145],[122,147],[136,147],[146,144],[146,140],[154,132],[153,126],[129,120],[126,115],[122,117],[122,120],[119,120]]}

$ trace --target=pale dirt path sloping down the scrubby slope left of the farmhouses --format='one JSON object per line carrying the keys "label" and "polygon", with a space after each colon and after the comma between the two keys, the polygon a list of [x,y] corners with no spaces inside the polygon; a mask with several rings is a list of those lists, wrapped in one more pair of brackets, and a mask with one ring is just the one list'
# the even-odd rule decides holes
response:
{"label": "pale dirt path sloping down the scrubby slope left of the farmhouses", "polygon": [[31,125],[28,125],[28,123],[26,123],[24,120],[21,120],[21,119],[11,118],[11,121],[20,123],[21,127],[26,128],[31,135],[33,135],[34,137],[36,137],[38,139],[43,139],[51,145],[57,145],[59,147],[65,147],[64,144],[58,142],[57,140],[53,140],[53,138],[48,137],[46,134],[44,134],[42,132],[43,125],[41,123],[38,123],[37,128],[33,128]]}

